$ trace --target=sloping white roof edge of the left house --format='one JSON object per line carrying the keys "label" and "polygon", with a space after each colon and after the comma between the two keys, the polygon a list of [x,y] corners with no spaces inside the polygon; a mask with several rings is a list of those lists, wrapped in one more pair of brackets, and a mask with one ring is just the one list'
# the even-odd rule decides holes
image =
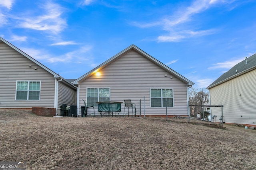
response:
{"label": "sloping white roof edge of the left house", "polygon": [[64,80],[66,83],[68,83],[69,85],[73,86],[74,85],[70,82],[68,82],[66,79],[64,79],[63,77],[61,77],[60,75],[58,75],[57,73],[55,73],[54,71],[50,70],[49,68],[47,68],[46,66],[44,66],[43,64],[39,63],[38,61],[36,61],[35,59],[33,59],[32,57],[30,57],[29,55],[27,55],[26,53],[24,53],[23,51],[21,51],[20,49],[18,49],[17,47],[15,47],[14,45],[12,45],[11,43],[9,43],[8,41],[6,41],[5,39],[3,39],[2,37],[0,37],[0,42],[4,42],[7,45],[9,45],[10,47],[12,47],[12,49],[18,51],[18,53],[20,53],[21,55],[27,57],[28,59],[30,59],[31,61],[33,61],[34,63],[36,63],[37,65],[39,65],[40,67],[44,68],[44,70],[48,71],[50,74],[53,75],[54,78],[58,78],[59,80],[62,79]]}

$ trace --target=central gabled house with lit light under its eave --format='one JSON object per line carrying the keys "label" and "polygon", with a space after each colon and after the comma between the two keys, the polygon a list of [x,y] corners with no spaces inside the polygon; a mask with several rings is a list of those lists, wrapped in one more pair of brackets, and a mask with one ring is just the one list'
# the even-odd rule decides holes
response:
{"label": "central gabled house with lit light under its eave", "polygon": [[[137,114],[141,100],[142,115],[188,115],[188,88],[194,83],[154,59],[135,45],[130,45],[73,82],[78,86],[78,107],[82,100],[95,102],[132,100]],[[144,105],[145,97],[145,105]],[[145,107],[144,107],[145,106]],[[92,107],[88,112],[92,113]],[[122,105],[121,114],[124,111]],[[127,111],[127,109],[126,109]],[[81,109],[79,111],[81,114]]]}

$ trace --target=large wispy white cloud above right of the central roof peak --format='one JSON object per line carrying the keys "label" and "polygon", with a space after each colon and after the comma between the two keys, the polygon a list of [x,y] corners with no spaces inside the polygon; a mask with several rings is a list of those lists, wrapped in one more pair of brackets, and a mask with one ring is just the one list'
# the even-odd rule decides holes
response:
{"label": "large wispy white cloud above right of the central roof peak", "polygon": [[[214,34],[215,29],[207,29],[197,31],[189,28],[193,16],[198,13],[202,13],[205,10],[216,6],[216,4],[232,3],[234,0],[195,0],[190,6],[178,8],[172,15],[159,19],[158,21],[152,21],[150,23],[138,23],[132,22],[132,25],[146,28],[161,26],[163,30],[167,31],[166,35],[159,35],[156,39],[158,42],[178,42],[185,38],[199,37],[204,35]],[[186,23],[186,25],[184,25]]]}

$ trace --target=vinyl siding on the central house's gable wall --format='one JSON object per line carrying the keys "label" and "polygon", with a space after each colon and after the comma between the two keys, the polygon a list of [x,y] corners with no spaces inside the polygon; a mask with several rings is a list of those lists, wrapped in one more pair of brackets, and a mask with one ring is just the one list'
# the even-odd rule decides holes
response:
{"label": "vinyl siding on the central house's gable wall", "polygon": [[[111,101],[131,99],[138,111],[139,100],[142,100],[144,113],[145,96],[147,115],[166,115],[166,107],[150,107],[150,88],[168,88],[173,89],[174,94],[174,107],[168,107],[168,114],[188,115],[186,84],[133,50],[99,72],[100,76],[94,74],[80,82],[80,106],[84,106],[82,99],[86,100],[86,88],[110,88]],[[92,108],[88,111],[92,111]],[[122,105],[121,113],[123,111]]]}

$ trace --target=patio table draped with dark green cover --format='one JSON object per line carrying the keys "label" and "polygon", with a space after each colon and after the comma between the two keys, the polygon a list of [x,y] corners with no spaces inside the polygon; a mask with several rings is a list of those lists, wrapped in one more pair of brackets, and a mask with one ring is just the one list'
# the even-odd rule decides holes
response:
{"label": "patio table draped with dark green cover", "polygon": [[98,104],[98,111],[101,113],[103,113],[103,115],[108,116],[110,115],[110,113],[112,113],[113,116],[113,112],[120,112],[121,111],[121,104],[123,102],[96,102]]}

